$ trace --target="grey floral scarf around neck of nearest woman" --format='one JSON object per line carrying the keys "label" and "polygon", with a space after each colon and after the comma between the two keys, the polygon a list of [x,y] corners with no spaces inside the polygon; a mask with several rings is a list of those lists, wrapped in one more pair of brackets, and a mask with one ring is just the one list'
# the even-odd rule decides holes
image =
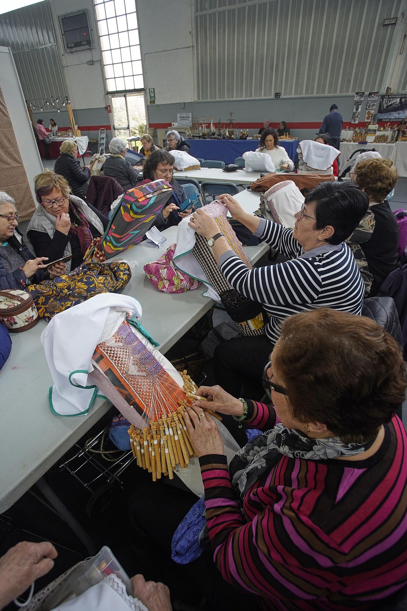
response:
{"label": "grey floral scarf around neck of nearest woman", "polygon": [[243,502],[248,490],[262,475],[269,473],[281,456],[305,458],[306,460],[327,460],[339,456],[355,456],[366,452],[374,439],[363,444],[344,444],[339,437],[310,439],[295,429],[281,423],[273,429],[248,442],[229,464],[232,486]]}

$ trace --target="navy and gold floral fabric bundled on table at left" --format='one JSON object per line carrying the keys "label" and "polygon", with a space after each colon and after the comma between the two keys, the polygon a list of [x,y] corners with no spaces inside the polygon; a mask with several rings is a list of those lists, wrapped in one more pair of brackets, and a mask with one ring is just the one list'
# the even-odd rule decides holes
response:
{"label": "navy and gold floral fabric bundled on table at left", "polygon": [[37,306],[38,316],[51,320],[59,312],[86,301],[98,293],[121,293],[131,279],[124,262],[82,263],[69,274],[27,287]]}

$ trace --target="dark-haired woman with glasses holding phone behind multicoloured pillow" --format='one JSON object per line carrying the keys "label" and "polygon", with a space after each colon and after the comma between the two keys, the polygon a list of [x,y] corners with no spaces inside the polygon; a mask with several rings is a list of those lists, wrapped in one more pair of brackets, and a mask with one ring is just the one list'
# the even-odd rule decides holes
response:
{"label": "dark-haired woman with glasses holding phone behind multicoloured pillow", "polygon": [[159,231],[167,229],[172,225],[178,225],[181,219],[186,216],[190,216],[192,208],[187,208],[184,212],[181,212],[181,204],[185,202],[187,196],[185,195],[184,189],[179,183],[173,179],[173,165],[175,159],[171,153],[167,151],[156,150],[146,159],[143,167],[143,180],[139,185],[146,185],[151,183],[153,180],[167,180],[173,188],[173,194],[167,201],[164,210],[157,216],[154,221],[154,226]]}

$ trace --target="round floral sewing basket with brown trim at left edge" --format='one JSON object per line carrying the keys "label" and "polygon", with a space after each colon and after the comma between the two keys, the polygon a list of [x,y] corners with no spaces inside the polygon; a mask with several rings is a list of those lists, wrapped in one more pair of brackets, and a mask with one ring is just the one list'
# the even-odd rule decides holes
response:
{"label": "round floral sewing basket with brown trim at left edge", "polygon": [[39,320],[37,308],[29,293],[18,288],[0,291],[0,323],[3,323],[10,333],[27,331]]}

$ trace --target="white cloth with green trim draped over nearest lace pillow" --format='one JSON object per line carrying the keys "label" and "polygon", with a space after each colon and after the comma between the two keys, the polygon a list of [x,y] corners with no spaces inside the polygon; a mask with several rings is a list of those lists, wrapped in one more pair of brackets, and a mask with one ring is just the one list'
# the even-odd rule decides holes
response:
{"label": "white cloth with green trim draped over nearest lace pillow", "polygon": [[[54,414],[84,415],[98,395],[88,383],[96,345],[117,331],[128,312],[141,318],[142,306],[128,295],[101,293],[52,318],[41,334],[54,386],[49,408]],[[103,397],[106,398],[106,397]]]}

